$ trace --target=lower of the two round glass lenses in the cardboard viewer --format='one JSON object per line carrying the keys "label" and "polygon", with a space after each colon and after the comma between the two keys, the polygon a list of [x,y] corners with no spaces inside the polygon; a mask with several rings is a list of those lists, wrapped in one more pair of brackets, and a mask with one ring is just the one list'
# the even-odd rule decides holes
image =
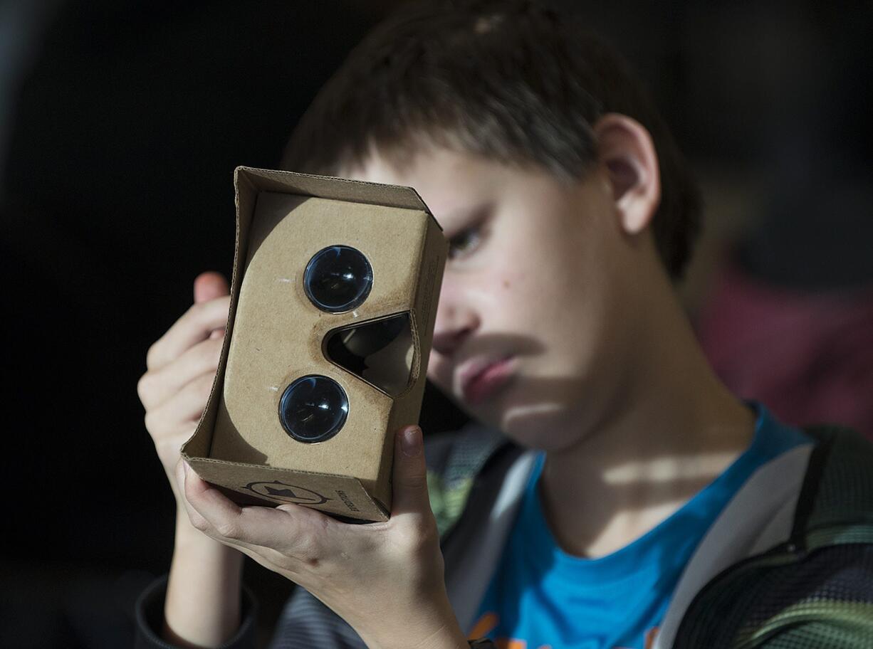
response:
{"label": "lower of the two round glass lenses in the cardboard viewer", "polygon": [[340,431],[348,415],[348,398],[339,383],[310,374],[285,388],[278,418],[297,441],[325,441]]}

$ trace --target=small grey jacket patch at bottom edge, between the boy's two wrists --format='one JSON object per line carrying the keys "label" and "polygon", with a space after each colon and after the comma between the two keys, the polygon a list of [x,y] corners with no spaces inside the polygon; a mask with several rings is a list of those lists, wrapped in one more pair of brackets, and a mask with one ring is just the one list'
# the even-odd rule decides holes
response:
{"label": "small grey jacket patch at bottom edge, between the boy's two wrists", "polygon": [[[271,649],[367,649],[346,620],[296,588],[276,625]],[[236,648],[235,648],[236,649]]]}

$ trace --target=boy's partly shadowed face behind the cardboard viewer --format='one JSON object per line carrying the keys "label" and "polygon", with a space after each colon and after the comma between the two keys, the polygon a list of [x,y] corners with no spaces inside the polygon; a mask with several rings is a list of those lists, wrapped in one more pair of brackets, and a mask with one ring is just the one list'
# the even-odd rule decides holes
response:
{"label": "boy's partly shadowed face behind the cardboard viewer", "polygon": [[[395,168],[378,154],[348,178],[407,185],[450,240],[429,378],[477,418],[557,450],[596,424],[588,404],[622,385],[634,318],[634,243],[607,175],[561,183],[445,149]],[[630,304],[633,304],[632,300]]]}

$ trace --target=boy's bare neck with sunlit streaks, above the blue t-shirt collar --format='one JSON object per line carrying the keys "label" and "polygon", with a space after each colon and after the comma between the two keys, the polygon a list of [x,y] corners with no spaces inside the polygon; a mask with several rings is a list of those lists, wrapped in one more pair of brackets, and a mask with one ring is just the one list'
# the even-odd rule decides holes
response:
{"label": "boy's bare neck with sunlit streaks, above the blue t-shirt collar", "polygon": [[546,456],[540,502],[570,554],[602,557],[642,536],[753,437],[754,413],[715,376],[677,301],[652,300],[646,313],[638,363],[617,406],[574,447]]}

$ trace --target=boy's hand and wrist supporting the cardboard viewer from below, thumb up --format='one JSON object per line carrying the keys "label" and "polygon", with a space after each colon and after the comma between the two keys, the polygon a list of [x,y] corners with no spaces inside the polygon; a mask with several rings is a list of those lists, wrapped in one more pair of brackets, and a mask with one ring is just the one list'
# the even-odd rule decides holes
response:
{"label": "boy's hand and wrist supporting the cardboard viewer from below, thumb up", "polygon": [[394,507],[386,523],[340,523],[315,509],[239,507],[183,461],[176,472],[191,523],[300,584],[370,649],[461,649],[443,581],[421,430],[396,434]]}

